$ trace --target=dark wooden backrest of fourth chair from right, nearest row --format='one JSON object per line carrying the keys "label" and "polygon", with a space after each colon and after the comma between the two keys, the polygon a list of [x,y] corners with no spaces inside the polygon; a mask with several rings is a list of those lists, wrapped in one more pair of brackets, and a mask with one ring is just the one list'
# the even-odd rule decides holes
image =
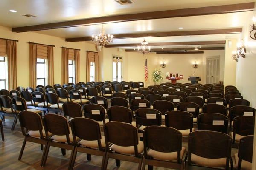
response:
{"label": "dark wooden backrest of fourth chair from right, nearest row", "polygon": [[[134,146],[135,156],[138,156],[138,130],[133,125],[123,122],[108,122],[104,125],[106,150],[109,151],[108,143],[118,146]],[[116,135],[119,134],[119,135]]]}

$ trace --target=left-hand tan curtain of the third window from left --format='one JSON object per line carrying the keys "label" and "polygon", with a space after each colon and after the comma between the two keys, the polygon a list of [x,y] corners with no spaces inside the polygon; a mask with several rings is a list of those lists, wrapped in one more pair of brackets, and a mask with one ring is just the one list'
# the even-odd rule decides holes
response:
{"label": "left-hand tan curtain of the third window from left", "polygon": [[61,83],[68,83],[68,49],[62,48],[61,57]]}

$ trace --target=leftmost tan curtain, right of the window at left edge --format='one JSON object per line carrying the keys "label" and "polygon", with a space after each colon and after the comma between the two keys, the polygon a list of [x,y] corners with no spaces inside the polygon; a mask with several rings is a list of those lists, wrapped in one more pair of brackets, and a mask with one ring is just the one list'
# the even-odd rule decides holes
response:
{"label": "leftmost tan curtain, right of the window at left edge", "polygon": [[7,57],[8,57],[8,88],[17,88],[17,43],[16,41],[6,41]]}

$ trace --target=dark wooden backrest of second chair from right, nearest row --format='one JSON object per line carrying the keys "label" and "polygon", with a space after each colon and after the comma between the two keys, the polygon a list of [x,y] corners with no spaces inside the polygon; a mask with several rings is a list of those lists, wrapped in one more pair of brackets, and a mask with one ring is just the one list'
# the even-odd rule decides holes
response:
{"label": "dark wooden backrest of second chair from right, nearest row", "polygon": [[191,165],[191,154],[208,159],[226,158],[228,170],[231,146],[231,137],[221,132],[198,130],[189,133],[188,164]]}

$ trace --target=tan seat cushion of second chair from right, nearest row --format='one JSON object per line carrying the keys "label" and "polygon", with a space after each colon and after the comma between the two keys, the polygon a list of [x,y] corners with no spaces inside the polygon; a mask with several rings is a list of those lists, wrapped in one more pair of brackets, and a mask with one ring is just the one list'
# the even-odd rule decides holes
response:
{"label": "tan seat cushion of second chair from right, nearest row", "polygon": [[209,159],[209,158],[197,156],[193,153],[191,154],[191,162],[193,164],[206,166],[206,167],[225,167],[226,166],[226,158]]}

